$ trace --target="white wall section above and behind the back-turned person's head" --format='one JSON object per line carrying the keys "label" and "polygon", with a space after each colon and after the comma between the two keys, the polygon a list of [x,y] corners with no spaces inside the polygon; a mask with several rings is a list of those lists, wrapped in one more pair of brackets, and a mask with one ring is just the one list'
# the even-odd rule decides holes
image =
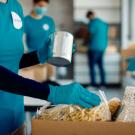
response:
{"label": "white wall section above and behind the back-turned person's head", "polygon": [[86,21],[88,10],[110,23],[120,23],[120,0],[74,0],[74,19]]}

